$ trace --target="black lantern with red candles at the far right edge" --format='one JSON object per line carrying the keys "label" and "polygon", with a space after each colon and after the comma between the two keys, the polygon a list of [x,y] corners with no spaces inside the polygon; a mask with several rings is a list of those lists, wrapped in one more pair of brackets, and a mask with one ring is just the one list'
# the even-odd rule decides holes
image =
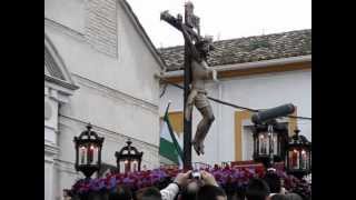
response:
{"label": "black lantern with red candles at the far right edge", "polygon": [[289,174],[303,178],[312,172],[312,142],[299,132],[295,130],[295,134],[289,138],[285,166]]}

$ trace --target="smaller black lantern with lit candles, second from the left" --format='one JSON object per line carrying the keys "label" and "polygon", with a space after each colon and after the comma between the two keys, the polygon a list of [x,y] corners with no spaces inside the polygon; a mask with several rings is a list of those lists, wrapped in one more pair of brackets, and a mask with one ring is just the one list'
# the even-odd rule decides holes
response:
{"label": "smaller black lantern with lit candles, second from the left", "polygon": [[118,172],[120,168],[123,172],[140,171],[144,152],[139,152],[135,147],[131,146],[131,141],[128,140],[120,151],[115,152]]}

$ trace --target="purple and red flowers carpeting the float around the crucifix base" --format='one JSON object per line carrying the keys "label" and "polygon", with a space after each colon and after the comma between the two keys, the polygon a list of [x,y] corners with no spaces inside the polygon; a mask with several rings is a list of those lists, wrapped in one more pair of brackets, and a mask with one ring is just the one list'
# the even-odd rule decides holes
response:
{"label": "purple and red flowers carpeting the float around the crucifix base", "polygon": [[[263,166],[215,166],[212,168],[205,168],[204,170],[211,173],[227,193],[244,191],[251,178],[263,178],[265,176],[265,169]],[[147,171],[109,173],[105,178],[78,180],[72,186],[71,193],[72,196],[81,196],[89,192],[110,192],[113,191],[118,184],[125,184],[132,191],[151,186],[162,189],[167,187],[179,172],[182,172],[182,170],[171,167],[161,167]],[[285,180],[285,188],[288,191],[310,197],[312,187],[308,182],[299,180],[293,176],[288,176],[280,169],[277,169],[276,173]]]}

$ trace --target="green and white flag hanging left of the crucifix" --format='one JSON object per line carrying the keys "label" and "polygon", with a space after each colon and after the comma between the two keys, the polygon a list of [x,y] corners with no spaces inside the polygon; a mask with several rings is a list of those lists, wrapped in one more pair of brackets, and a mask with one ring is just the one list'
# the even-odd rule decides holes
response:
{"label": "green and white flag hanging left of the crucifix", "polygon": [[171,123],[169,122],[167,106],[166,113],[160,130],[160,141],[159,141],[159,154],[166,159],[172,161],[174,163],[182,167],[182,151],[181,147],[177,141],[177,136],[172,130]]}

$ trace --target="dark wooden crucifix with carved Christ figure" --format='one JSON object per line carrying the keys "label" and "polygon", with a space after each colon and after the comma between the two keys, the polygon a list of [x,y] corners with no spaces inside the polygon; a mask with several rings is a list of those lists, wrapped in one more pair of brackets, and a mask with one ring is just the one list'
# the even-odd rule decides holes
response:
{"label": "dark wooden crucifix with carved Christ figure", "polygon": [[[199,18],[194,14],[191,2],[185,4],[185,22],[180,14],[177,18],[164,11],[160,19],[179,30],[185,38],[184,66],[184,168],[191,169],[191,146],[198,156],[204,154],[204,140],[215,120],[211,106],[207,98],[205,82],[208,79],[217,81],[217,73],[209,69],[207,57],[214,50],[212,39],[200,37]],[[202,119],[198,123],[191,141],[191,112],[194,106]]]}

